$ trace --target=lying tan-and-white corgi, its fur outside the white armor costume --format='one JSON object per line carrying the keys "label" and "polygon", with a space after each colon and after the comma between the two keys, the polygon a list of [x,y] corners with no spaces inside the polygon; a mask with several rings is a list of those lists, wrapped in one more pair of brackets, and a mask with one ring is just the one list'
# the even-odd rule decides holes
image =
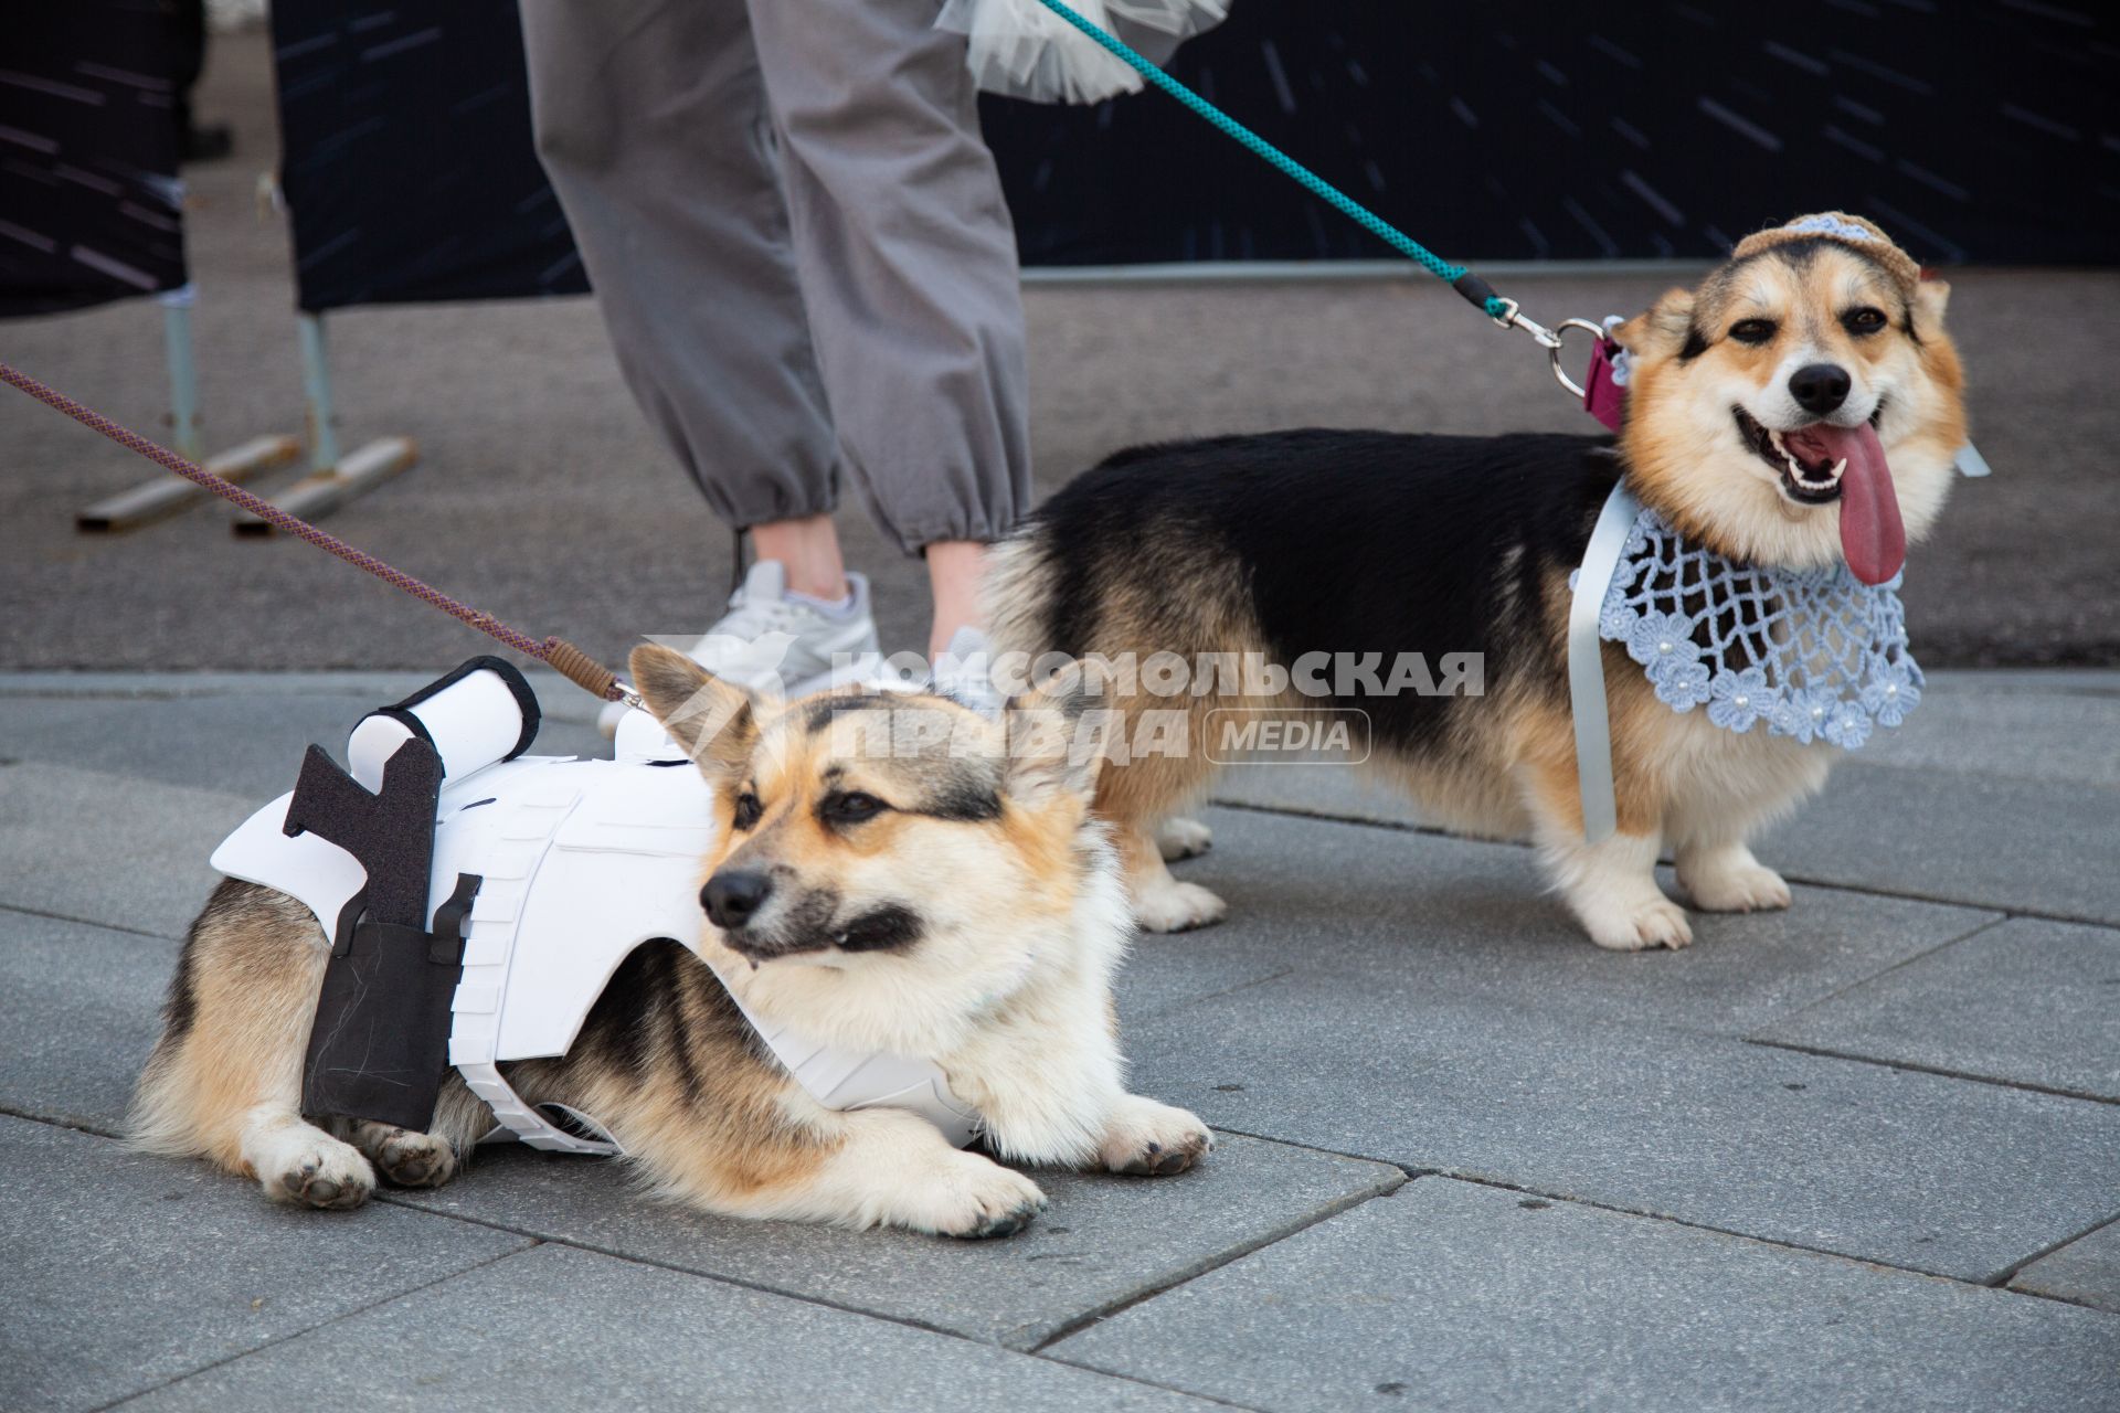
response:
{"label": "lying tan-and-white corgi, its fur outside the white armor costume", "polygon": [[[712,926],[700,955],[630,953],[564,1057],[505,1068],[522,1099],[594,1114],[651,1188],[706,1212],[952,1237],[1018,1231],[1045,1197],[914,1112],[820,1106],[746,1010],[931,1059],[1007,1161],[1160,1176],[1211,1148],[1194,1114],[1124,1089],[1130,917],[1094,761],[1026,729],[1066,718],[1062,695],[999,722],[903,693],[772,708],[657,646],[632,676],[714,794]],[[428,1131],[301,1112],[329,953],[303,902],[223,883],[184,943],[136,1140],[314,1208],[358,1205],[377,1174],[447,1182],[494,1129],[454,1072]]]}

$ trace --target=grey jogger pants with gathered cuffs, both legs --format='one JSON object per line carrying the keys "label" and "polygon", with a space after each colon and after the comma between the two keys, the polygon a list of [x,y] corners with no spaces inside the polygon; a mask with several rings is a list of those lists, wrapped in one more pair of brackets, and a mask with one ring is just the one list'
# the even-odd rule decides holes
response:
{"label": "grey jogger pants with gathered cuffs, both legs", "polygon": [[907,551],[1030,508],[1015,237],[937,0],[522,0],[619,369],[734,525],[840,468]]}

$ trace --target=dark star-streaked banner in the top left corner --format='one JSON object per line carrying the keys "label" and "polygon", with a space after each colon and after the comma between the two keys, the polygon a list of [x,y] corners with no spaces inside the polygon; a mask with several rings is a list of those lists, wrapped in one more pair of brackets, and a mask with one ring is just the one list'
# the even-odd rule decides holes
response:
{"label": "dark star-streaked banner in the top left corner", "polygon": [[184,284],[174,11],[6,6],[0,38],[0,318]]}

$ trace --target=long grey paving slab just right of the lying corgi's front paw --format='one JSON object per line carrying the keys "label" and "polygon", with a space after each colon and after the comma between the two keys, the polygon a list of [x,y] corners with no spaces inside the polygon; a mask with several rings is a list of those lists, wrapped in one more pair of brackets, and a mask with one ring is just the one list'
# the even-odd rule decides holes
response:
{"label": "long grey paving slab just right of the lying corgi's front paw", "polygon": [[1211,1125],[1995,1280],[2120,1212],[2120,1108],[1295,972],[1132,1036]]}

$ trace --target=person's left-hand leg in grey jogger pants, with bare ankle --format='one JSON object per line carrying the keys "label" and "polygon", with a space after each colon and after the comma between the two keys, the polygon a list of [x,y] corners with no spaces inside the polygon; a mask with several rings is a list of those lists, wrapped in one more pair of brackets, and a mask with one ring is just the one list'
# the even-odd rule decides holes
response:
{"label": "person's left-hand leg in grey jogger pants, with bare ankle", "polygon": [[714,515],[763,538],[808,523],[791,580],[842,595],[820,521],[835,434],[744,8],[522,0],[522,17],[538,157],[628,388]]}

